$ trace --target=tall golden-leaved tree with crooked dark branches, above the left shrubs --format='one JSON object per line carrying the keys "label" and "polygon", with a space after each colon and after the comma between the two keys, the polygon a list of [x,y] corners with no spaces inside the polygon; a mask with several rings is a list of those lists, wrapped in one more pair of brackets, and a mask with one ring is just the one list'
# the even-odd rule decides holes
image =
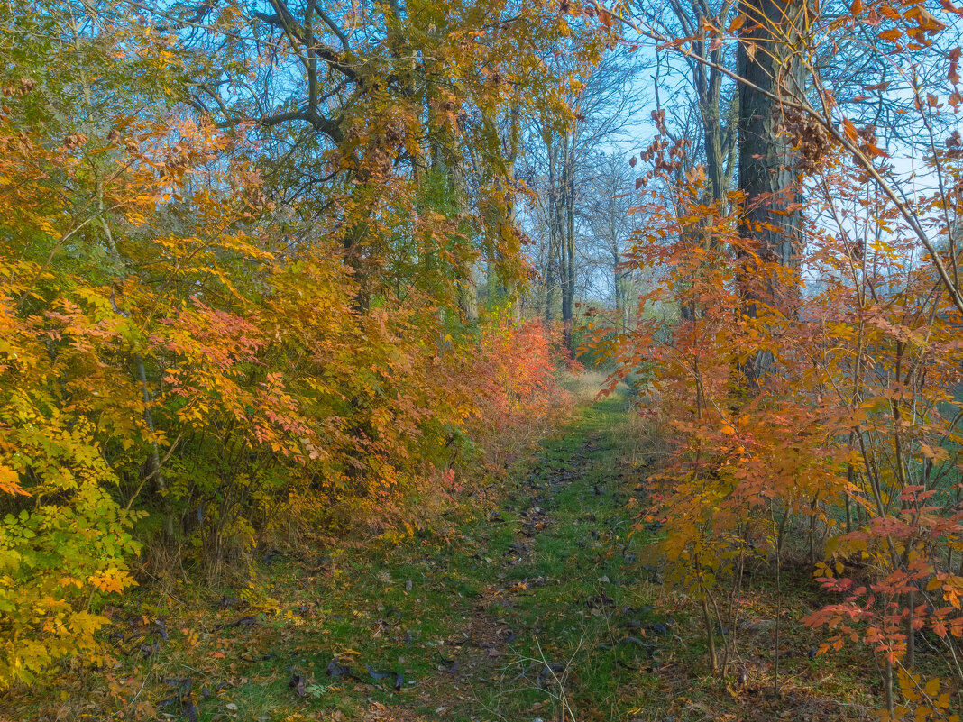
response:
{"label": "tall golden-leaved tree with crooked dark branches, above the left shrubs", "polygon": [[[561,38],[582,58],[597,53],[594,30],[556,0],[121,6],[144,13],[192,58],[190,101],[199,114],[274,144],[275,157],[260,160],[274,177],[287,176],[285,200],[299,194],[338,219],[331,230],[358,283],[360,310],[385,291],[384,271],[400,269],[399,242],[413,277],[425,277],[425,263],[453,267],[442,274],[453,303],[480,254],[518,272],[512,234],[488,224],[511,216],[513,193],[492,120],[509,96],[524,114],[563,112],[560,76],[543,60]],[[464,190],[468,166],[487,208],[455,204],[470,216],[466,232],[439,245],[425,227],[430,215],[410,216],[406,234],[385,225],[425,173],[447,176],[454,192],[455,169]],[[500,244],[507,247],[496,252]]]}

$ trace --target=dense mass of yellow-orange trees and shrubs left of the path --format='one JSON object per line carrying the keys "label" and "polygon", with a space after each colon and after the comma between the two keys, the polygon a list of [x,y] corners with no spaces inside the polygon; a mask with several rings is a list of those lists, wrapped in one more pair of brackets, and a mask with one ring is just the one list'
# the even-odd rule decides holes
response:
{"label": "dense mass of yellow-orange trees and shrubs left of the path", "polygon": [[545,48],[598,52],[576,9],[2,20],[0,683],[92,653],[137,580],[242,578],[259,544],[360,519],[414,533],[459,454],[557,413],[542,327],[459,294],[480,257],[520,279],[491,120],[563,108]]}

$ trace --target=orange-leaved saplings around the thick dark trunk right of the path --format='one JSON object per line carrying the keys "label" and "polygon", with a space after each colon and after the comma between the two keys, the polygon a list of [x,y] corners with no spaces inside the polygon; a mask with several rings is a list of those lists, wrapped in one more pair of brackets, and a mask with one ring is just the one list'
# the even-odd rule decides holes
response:
{"label": "orange-leaved saplings around the thick dark trunk right of the path", "polygon": [[[697,312],[668,343],[653,323],[597,334],[623,369],[658,359],[661,413],[680,438],[653,484],[664,500],[656,513],[672,578],[702,605],[711,663],[714,637],[723,673],[733,642],[712,627],[719,580],[738,588],[759,550],[778,580],[784,550],[800,544],[840,595],[807,620],[838,630],[822,651],[866,644],[891,719],[945,718],[947,685],[958,679],[960,607],[945,554],[959,533],[950,471],[959,367],[943,360],[963,310],[949,250],[960,51],[958,33],[946,35],[960,11],[933,10],[941,14],[887,3],[743,5],[729,22],[705,20],[718,42],[740,49],[737,69],[693,51],[691,37],[637,28],[739,85],[740,204],[707,222],[708,183],[685,144],[660,142],[643,157],[641,185],[661,184],[655,227],[630,256],[667,274],[643,302],[672,298]],[[893,54],[906,69],[895,71]],[[877,133],[883,117],[898,122]],[[664,125],[661,114],[656,121]],[[700,223],[711,243],[696,248],[687,234]],[[734,396],[739,367],[750,383]],[[871,574],[849,573],[867,560]],[[940,679],[921,672],[924,629],[939,640],[930,659],[941,660]]]}

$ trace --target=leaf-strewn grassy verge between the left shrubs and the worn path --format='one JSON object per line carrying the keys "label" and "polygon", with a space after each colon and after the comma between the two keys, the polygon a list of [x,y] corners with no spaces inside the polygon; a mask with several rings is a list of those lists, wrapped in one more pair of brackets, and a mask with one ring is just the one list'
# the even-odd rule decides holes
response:
{"label": "leaf-strewn grassy verge between the left shrubs and the worn path", "polygon": [[[480,592],[468,571],[475,529],[538,441],[570,418],[568,398],[546,391],[550,413],[520,420],[502,449],[429,471],[409,496],[354,512],[338,534],[289,519],[289,534],[266,536],[213,583],[187,568],[128,591],[101,608],[109,622],[95,653],[63,658],[42,685],[14,683],[0,716],[336,722],[364,718],[372,700],[410,703]],[[489,431],[486,443],[497,442]],[[360,675],[366,664],[399,670],[402,688],[332,677],[332,659]]]}

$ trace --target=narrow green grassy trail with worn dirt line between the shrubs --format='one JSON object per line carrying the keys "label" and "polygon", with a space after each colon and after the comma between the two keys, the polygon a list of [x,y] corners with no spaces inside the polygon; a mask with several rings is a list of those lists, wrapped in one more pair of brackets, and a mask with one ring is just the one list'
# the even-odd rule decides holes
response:
{"label": "narrow green grassy trail with worn dirt line between the shrubs", "polygon": [[628,701],[655,692],[646,668],[668,628],[630,538],[646,459],[626,444],[626,420],[619,397],[581,410],[498,510],[461,529],[467,558],[438,561],[471,592],[444,613],[448,633],[423,643],[435,670],[366,719],[635,719]]}

